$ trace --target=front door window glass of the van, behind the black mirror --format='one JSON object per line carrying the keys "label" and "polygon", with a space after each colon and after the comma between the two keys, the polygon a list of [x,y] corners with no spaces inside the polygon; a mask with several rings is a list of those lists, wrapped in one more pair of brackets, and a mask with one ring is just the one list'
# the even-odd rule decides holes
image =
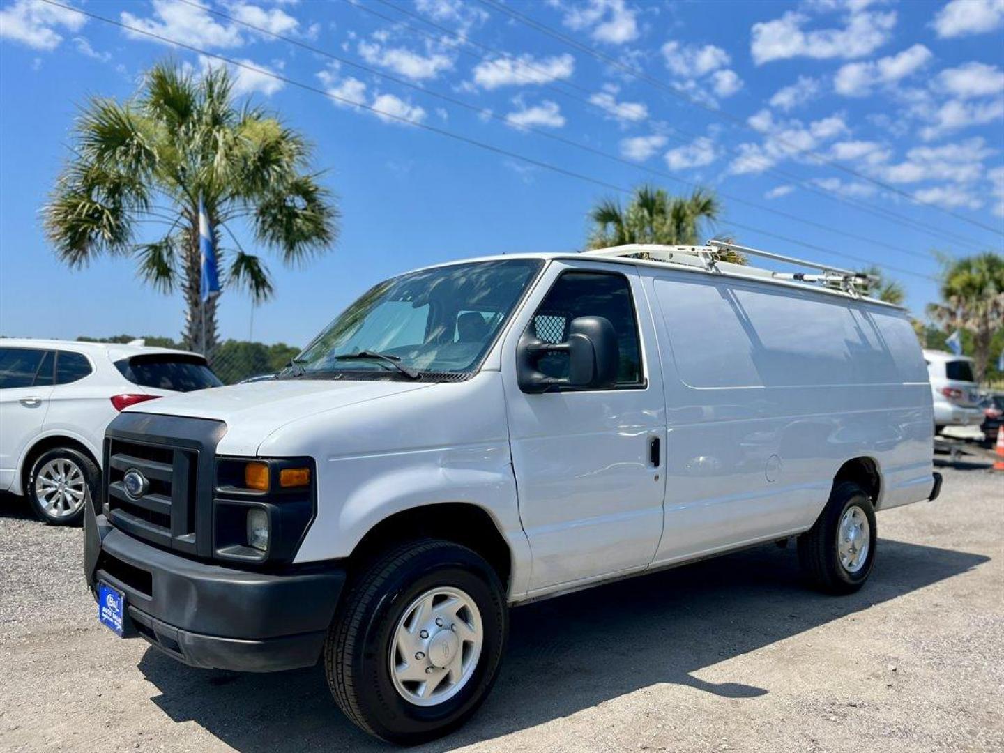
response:
{"label": "front door window glass of the van, behind the black mirror", "polygon": [[[620,350],[617,386],[640,385],[638,320],[628,278],[613,272],[565,272],[537,309],[531,323],[533,333],[544,342],[564,342],[568,325],[577,316],[609,319]],[[548,376],[567,376],[568,358],[561,353],[545,355],[537,361],[537,368]]]}

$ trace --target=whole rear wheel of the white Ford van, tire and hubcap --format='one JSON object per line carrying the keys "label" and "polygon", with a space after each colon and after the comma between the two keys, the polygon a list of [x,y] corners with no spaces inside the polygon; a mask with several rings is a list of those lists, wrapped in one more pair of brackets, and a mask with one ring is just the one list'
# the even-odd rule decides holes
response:
{"label": "whole rear wheel of the white Ford van, tire and hubcap", "polygon": [[851,481],[836,485],[811,529],[798,537],[806,579],[827,593],[853,593],[874,565],[878,528],[871,498]]}

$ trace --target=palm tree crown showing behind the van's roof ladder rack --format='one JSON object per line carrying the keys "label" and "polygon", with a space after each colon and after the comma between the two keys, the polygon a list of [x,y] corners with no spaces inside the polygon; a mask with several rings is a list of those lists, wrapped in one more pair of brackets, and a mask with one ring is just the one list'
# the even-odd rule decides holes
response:
{"label": "palm tree crown showing behind the van's roof ladder rack", "polygon": [[[696,189],[689,197],[677,197],[653,186],[640,186],[626,208],[615,199],[603,199],[589,212],[593,228],[587,246],[696,246],[704,237],[701,225],[717,220],[721,211],[717,197],[704,189]],[[723,253],[722,258],[740,264],[745,261],[731,251]]]}

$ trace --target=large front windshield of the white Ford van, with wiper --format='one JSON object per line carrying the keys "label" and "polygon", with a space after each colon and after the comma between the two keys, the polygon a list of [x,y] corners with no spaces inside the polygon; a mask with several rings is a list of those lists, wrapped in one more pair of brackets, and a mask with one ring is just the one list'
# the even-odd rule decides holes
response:
{"label": "large front windshield of the white Ford van, with wiper", "polygon": [[536,259],[471,262],[382,282],[342,311],[279,378],[470,373],[540,266]]}

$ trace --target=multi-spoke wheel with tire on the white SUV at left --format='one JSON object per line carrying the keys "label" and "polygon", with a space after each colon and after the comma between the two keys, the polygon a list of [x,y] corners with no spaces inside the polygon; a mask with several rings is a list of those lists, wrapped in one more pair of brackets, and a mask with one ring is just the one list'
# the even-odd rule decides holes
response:
{"label": "multi-spoke wheel with tire on the white SUV at left", "polygon": [[28,501],[35,515],[50,525],[80,525],[84,505],[97,493],[100,472],[83,453],[56,447],[42,453],[28,475]]}

